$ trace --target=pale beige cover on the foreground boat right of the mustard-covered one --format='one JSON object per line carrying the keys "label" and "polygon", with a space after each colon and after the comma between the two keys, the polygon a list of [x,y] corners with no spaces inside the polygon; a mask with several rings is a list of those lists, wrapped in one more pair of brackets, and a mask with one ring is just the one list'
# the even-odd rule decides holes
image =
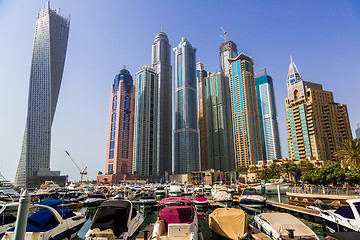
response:
{"label": "pale beige cover on the foreground boat right of the mustard-covered one", "polygon": [[288,237],[288,231],[286,229],[293,229],[295,239],[310,237],[316,239],[316,234],[308,226],[289,213],[262,213],[261,216],[282,238]]}

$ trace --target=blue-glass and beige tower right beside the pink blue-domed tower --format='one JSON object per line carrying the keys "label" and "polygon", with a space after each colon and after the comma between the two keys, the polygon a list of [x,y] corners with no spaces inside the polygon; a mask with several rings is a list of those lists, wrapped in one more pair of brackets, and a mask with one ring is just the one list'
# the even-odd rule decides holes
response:
{"label": "blue-glass and beige tower right beside the pink blue-domed tower", "polygon": [[133,172],[142,176],[159,173],[158,161],[158,75],[145,65],[135,78]]}

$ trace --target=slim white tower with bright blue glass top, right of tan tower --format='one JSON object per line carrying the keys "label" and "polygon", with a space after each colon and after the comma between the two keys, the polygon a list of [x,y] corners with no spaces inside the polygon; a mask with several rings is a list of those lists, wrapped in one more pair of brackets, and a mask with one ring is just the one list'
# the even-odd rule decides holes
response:
{"label": "slim white tower with bright blue glass top, right of tan tower", "polygon": [[274,85],[266,68],[255,73],[256,95],[260,119],[263,159],[280,159],[280,138]]}

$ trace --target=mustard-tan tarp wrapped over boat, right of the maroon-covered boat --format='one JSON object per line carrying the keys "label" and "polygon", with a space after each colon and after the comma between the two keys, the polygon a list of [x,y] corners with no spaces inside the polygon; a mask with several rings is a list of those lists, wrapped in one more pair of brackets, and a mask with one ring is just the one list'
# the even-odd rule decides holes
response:
{"label": "mustard-tan tarp wrapped over boat, right of the maroon-covered boat", "polygon": [[247,214],[236,208],[218,208],[209,215],[209,227],[229,239],[241,238],[247,230]]}

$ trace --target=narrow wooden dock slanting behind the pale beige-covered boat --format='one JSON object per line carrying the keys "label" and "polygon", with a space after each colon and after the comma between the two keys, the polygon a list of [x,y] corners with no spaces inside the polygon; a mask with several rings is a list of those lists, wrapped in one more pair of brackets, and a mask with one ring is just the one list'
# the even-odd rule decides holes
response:
{"label": "narrow wooden dock slanting behind the pale beige-covered boat", "polygon": [[313,209],[307,209],[307,208],[300,207],[300,206],[294,206],[294,205],[285,204],[285,203],[278,203],[278,202],[273,202],[273,201],[269,201],[269,200],[266,201],[266,206],[269,209],[274,209],[279,212],[292,213],[295,216],[307,218],[312,221],[322,223],[322,218],[319,216],[320,212],[313,210]]}

